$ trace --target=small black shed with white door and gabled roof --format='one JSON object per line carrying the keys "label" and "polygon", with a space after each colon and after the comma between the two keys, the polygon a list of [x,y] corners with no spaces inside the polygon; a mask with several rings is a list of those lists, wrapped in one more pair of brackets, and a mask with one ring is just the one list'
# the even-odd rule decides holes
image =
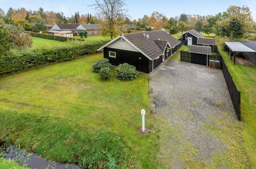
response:
{"label": "small black shed with white door and gabled roof", "polygon": [[191,29],[182,34],[182,43],[183,45],[197,45],[198,38],[204,38],[200,32]]}

